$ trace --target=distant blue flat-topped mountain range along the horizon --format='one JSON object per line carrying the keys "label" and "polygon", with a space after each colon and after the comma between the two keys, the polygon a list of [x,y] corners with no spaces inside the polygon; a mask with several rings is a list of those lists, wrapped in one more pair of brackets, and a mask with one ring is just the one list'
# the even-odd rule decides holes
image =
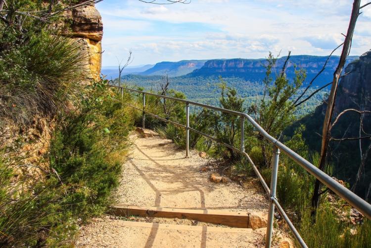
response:
{"label": "distant blue flat-topped mountain range along the horizon", "polygon": [[[358,56],[349,56],[347,63],[357,59]],[[287,64],[286,75],[292,79],[295,76],[295,68],[303,68],[307,74],[308,83],[322,69],[327,56],[312,56],[312,55],[294,55],[290,57]],[[278,73],[286,56],[280,57],[277,60],[274,74]],[[314,86],[322,86],[332,80],[333,72],[338,64],[339,56],[331,56],[327,62],[326,68],[320,77],[314,83]],[[122,75],[141,75],[141,76],[164,76],[169,77],[218,77],[223,78],[242,78],[250,82],[262,82],[265,77],[267,61],[265,58],[259,59],[211,59],[211,60],[181,60],[178,62],[159,62],[155,65],[144,65],[140,67],[125,68]],[[107,78],[118,77],[118,68],[102,69],[102,74],[107,75]]]}

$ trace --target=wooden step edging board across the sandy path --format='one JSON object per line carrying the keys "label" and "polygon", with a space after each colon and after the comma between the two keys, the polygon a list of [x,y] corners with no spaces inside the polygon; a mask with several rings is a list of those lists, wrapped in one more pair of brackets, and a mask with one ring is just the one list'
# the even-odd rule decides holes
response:
{"label": "wooden step edging board across the sandy path", "polygon": [[124,204],[114,205],[111,207],[111,210],[112,214],[117,216],[139,215],[142,217],[179,218],[238,228],[252,227],[251,225],[249,225],[250,213],[243,211],[232,212],[222,210],[195,210]]}

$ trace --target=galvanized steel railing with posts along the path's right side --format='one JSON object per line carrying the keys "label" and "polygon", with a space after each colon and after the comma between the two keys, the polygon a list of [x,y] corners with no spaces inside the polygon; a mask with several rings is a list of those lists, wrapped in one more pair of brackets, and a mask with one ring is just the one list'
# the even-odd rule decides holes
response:
{"label": "galvanized steel railing with posts along the path's right side", "polygon": [[[258,176],[261,184],[263,185],[265,191],[269,195],[270,202],[269,202],[269,212],[268,212],[268,225],[267,225],[267,234],[266,234],[266,248],[271,247],[272,243],[272,234],[273,234],[273,220],[274,220],[274,211],[275,211],[275,206],[277,207],[278,212],[280,215],[283,217],[285,222],[287,223],[288,227],[292,231],[295,239],[297,242],[300,244],[301,247],[307,248],[307,245],[301,238],[300,234],[284,212],[283,208],[281,205],[278,203],[278,199],[276,198],[276,188],[277,188],[277,174],[278,174],[278,160],[279,160],[279,153],[282,151],[285,153],[287,156],[289,156],[291,159],[293,159],[296,163],[298,163],[300,166],[302,166],[306,171],[308,171],[310,174],[315,176],[318,180],[320,180],[325,186],[327,186],[331,191],[336,193],[338,196],[341,198],[345,199],[349,204],[351,204],[353,207],[355,207],[358,211],[360,211],[362,214],[364,214],[368,219],[371,219],[371,204],[369,204],[367,201],[364,199],[360,198],[338,182],[336,182],[334,179],[332,179],[330,176],[328,176],[325,172],[314,166],[312,163],[308,162],[306,159],[301,157],[299,154],[294,152],[293,150],[289,149],[282,143],[280,143],[277,139],[273,138],[271,135],[269,135],[258,123],[254,121],[253,118],[251,118],[248,114],[225,109],[225,108],[220,108],[220,107],[215,107],[215,106],[210,106],[207,104],[203,103],[198,103],[194,101],[189,101],[186,99],[177,99],[177,98],[172,98],[168,96],[163,96],[163,95],[157,95],[149,92],[144,92],[144,91],[139,91],[139,90],[134,90],[134,89],[129,89],[126,87],[119,87],[119,86],[113,86],[110,85],[111,87],[118,88],[121,91],[121,95],[123,95],[123,91],[130,91],[130,92],[137,92],[142,94],[143,97],[143,106],[142,109],[130,105],[133,108],[138,109],[139,111],[142,111],[142,127],[144,128],[144,120],[145,120],[145,114],[149,114],[155,118],[158,118],[160,120],[163,120],[165,122],[172,123],[174,125],[177,125],[179,127],[185,128],[186,130],[186,136],[185,136],[185,156],[188,156],[188,151],[189,151],[189,131],[195,132],[199,135],[204,136],[207,139],[213,140],[229,149],[232,149],[234,151],[237,151],[244,155],[248,161],[250,162],[251,166],[253,167],[256,175]],[[154,96],[160,99],[170,99],[178,102],[183,102],[185,103],[185,110],[186,110],[186,123],[185,125],[174,122],[171,120],[167,120],[165,118],[162,118],[160,116],[157,116],[153,113],[150,113],[145,110],[145,95],[148,96]],[[204,134],[198,130],[195,130],[191,127],[189,127],[189,105],[195,105],[203,108],[208,108],[208,109],[213,109],[217,111],[221,111],[224,113],[229,113],[232,115],[239,116],[240,121],[241,121],[241,142],[240,142],[240,148],[234,148],[233,146],[220,142],[216,138]],[[257,131],[270,143],[273,144],[273,159],[272,159],[272,176],[271,176],[271,187],[268,188],[267,183],[264,181],[262,175],[260,174],[258,168],[255,166],[254,162],[251,160],[250,156],[245,152],[244,149],[244,120],[247,119],[256,129]],[[271,189],[271,190],[270,190]]]}

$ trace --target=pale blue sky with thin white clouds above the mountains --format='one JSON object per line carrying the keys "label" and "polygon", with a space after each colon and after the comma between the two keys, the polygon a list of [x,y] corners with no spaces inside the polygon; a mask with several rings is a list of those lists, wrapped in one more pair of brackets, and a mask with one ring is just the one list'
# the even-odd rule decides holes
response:
{"label": "pale blue sky with thin white clouds above the mountains", "polygon": [[[328,55],[344,40],[341,33],[347,31],[352,2],[191,0],[156,5],[103,0],[96,4],[103,21],[102,66],[117,65],[129,51],[131,66],[184,59],[264,58],[269,51]],[[362,10],[351,55],[371,49],[371,5]]]}

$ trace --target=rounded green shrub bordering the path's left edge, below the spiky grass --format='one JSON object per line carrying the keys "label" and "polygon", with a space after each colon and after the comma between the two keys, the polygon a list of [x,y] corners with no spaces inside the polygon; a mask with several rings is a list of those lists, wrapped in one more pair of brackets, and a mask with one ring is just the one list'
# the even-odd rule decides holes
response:
{"label": "rounded green shrub bordering the path's left edge, below the spiky grass", "polygon": [[86,216],[104,209],[118,186],[133,126],[127,99],[118,100],[104,82],[90,88],[81,110],[63,117],[50,146],[50,166],[65,183],[78,185],[70,201]]}

